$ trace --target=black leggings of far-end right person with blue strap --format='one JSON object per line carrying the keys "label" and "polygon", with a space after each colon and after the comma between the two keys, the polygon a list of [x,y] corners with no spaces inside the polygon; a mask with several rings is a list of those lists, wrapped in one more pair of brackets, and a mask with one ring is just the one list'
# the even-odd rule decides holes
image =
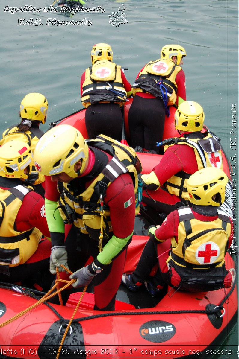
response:
{"label": "black leggings of far-end right person with blue strap", "polygon": [[146,150],[159,152],[156,142],[164,133],[165,106],[158,98],[143,98],[135,95],[129,109],[129,145],[141,146]]}

